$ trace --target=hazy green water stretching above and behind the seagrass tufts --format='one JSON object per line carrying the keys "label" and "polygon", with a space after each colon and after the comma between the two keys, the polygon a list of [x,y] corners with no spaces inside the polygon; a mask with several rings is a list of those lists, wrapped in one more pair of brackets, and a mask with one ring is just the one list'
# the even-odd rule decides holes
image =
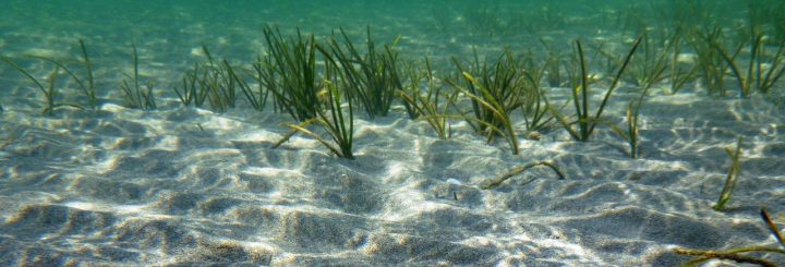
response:
{"label": "hazy green water stretching above and behind the seagrass tufts", "polygon": [[[202,45],[215,54],[250,64],[264,53],[264,25],[285,34],[300,29],[317,39],[343,28],[364,40],[370,26],[377,45],[401,36],[407,59],[495,56],[503,48],[545,54],[543,44],[570,53],[572,41],[624,50],[642,33],[666,36],[681,26],[723,27],[728,36],[754,25],[773,41],[785,37],[781,1],[16,1],[0,2],[0,54],[58,59],[78,54],[86,41],[100,80],[117,83],[130,62],[131,45],[159,83],[179,80]],[[749,12],[752,10],[753,12]],[[757,14],[750,20],[750,14]],[[618,48],[617,48],[618,47]],[[689,52],[687,50],[687,52]],[[543,56],[544,57],[544,56]],[[43,68],[43,66],[41,66]],[[438,69],[438,66],[437,66]],[[5,83],[9,68],[0,68]],[[39,71],[43,72],[43,71]],[[12,83],[11,85],[17,85]],[[7,87],[7,86],[3,86]],[[7,88],[4,88],[7,89]]]}

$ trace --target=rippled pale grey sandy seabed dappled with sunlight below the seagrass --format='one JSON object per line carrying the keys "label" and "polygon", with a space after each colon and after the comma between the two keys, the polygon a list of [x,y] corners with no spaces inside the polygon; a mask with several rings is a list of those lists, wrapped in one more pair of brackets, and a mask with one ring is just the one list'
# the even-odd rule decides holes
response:
{"label": "rippled pale grey sandy seabed dappled with sunlight below the seagrass", "polygon": [[[606,112],[619,125],[629,97]],[[300,135],[270,148],[291,121],[270,111],[24,101],[0,113],[1,266],[673,266],[688,259],[673,247],[773,244],[759,208],[785,211],[785,112],[757,98],[649,98],[640,159],[607,128],[511,155],[461,122],[438,139],[400,107],[358,118],[347,160]],[[742,172],[715,211],[738,136]],[[536,160],[566,179],[534,168],[480,189]]]}

